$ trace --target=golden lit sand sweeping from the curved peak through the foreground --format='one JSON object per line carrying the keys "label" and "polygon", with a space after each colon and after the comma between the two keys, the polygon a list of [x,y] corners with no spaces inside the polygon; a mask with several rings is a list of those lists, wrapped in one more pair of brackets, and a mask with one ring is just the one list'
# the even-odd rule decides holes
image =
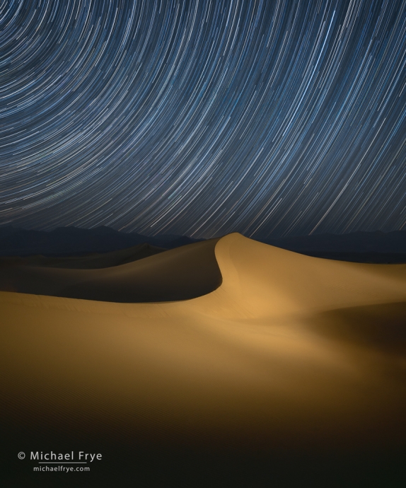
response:
{"label": "golden lit sand sweeping from the curved peak through the foreground", "polygon": [[[8,431],[295,456],[401,449],[406,265],[322,260],[236,233],[214,252],[222,283],[192,300],[1,292]],[[151,269],[165,255],[146,258]]]}

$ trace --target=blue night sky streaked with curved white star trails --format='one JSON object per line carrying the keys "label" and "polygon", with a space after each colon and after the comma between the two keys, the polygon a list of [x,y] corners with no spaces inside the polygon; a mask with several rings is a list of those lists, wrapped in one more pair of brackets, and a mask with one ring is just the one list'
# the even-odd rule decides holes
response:
{"label": "blue night sky streaked with curved white star trails", "polygon": [[406,0],[0,0],[0,223],[406,228]]}

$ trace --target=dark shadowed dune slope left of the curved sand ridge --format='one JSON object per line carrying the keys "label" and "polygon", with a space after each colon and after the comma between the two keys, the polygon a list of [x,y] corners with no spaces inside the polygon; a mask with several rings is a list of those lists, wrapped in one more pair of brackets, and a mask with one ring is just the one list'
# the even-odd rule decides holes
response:
{"label": "dark shadowed dune slope left of the curved sand ridge", "polygon": [[109,257],[97,257],[95,262],[88,258],[87,265],[103,265],[103,269],[57,269],[47,263],[46,267],[40,263],[3,267],[0,289],[112,302],[186,300],[221,283],[215,245],[216,239],[206,240],[114,267],[104,266]]}

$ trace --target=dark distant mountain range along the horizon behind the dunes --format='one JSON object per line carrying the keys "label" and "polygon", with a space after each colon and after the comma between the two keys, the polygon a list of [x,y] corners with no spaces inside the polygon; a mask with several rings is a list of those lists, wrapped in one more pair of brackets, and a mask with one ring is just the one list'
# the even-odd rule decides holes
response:
{"label": "dark distant mountain range along the horizon behind the dunes", "polygon": [[[149,243],[173,249],[204,239],[187,236],[142,236],[100,226],[92,229],[61,227],[53,231],[32,231],[0,226],[0,255],[84,255],[111,252]],[[406,262],[406,231],[354,232],[285,238],[255,238],[262,243],[302,254],[359,262]]]}

